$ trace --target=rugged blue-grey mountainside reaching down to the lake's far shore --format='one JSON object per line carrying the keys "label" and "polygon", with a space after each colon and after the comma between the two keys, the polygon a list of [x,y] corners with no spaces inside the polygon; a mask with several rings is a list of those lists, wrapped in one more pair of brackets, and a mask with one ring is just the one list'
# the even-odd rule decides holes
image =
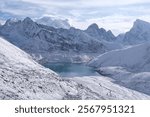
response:
{"label": "rugged blue-grey mountainside reaching down to the lake's far shore", "polygon": [[17,22],[8,20],[0,28],[0,34],[9,42],[44,62],[87,62],[95,54],[120,48],[117,44],[103,42],[82,30],[55,29],[37,24],[30,18]]}

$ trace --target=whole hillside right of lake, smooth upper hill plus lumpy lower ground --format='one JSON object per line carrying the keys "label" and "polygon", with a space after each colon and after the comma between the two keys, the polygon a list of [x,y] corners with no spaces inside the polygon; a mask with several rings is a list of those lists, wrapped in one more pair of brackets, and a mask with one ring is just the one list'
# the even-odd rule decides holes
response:
{"label": "whole hillside right of lake, smooth upper hill plus lumpy lower ground", "polygon": [[147,42],[105,53],[89,65],[96,67],[101,75],[113,78],[117,84],[150,95],[149,53],[150,42]]}

